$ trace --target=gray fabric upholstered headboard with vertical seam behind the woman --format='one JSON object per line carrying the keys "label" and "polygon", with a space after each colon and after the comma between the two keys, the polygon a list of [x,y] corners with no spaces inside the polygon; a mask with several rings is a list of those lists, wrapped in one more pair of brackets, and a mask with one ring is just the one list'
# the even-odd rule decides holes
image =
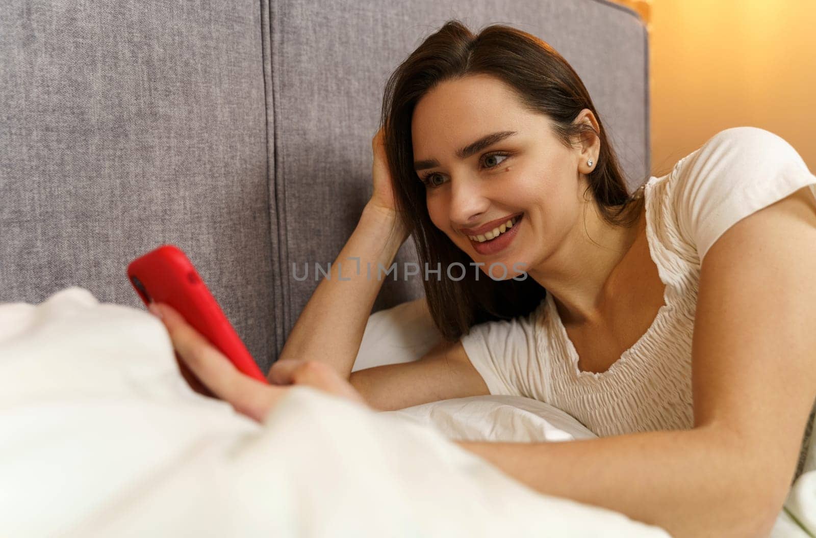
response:
{"label": "gray fabric upholstered headboard with vertical seam behind the woman", "polygon": [[[511,24],[554,46],[630,187],[645,179],[646,33],[611,2],[10,0],[0,302],[77,285],[142,307],[127,263],[175,244],[265,370],[317,287],[291,278],[292,263],[334,261],[370,196],[388,74],[449,19]],[[413,253],[409,240],[397,262]],[[375,311],[422,293],[417,277],[386,280]]]}

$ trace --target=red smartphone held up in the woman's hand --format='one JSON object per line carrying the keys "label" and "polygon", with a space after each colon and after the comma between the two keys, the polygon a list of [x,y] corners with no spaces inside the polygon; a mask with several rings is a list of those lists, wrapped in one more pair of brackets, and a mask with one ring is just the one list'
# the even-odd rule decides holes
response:
{"label": "red smartphone held up in the woman's hand", "polygon": [[[163,302],[172,306],[240,372],[268,384],[266,376],[193,267],[193,262],[181,249],[162,245],[136,258],[127,266],[127,278],[145,305]],[[187,368],[182,362],[180,366]]]}

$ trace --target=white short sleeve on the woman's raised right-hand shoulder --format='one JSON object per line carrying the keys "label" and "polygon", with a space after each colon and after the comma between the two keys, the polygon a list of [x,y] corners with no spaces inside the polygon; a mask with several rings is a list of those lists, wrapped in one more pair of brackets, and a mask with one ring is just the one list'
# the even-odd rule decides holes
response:
{"label": "white short sleeve on the woman's raised right-hand shoulder", "polygon": [[721,130],[672,170],[677,225],[700,262],[739,220],[801,187],[816,196],[816,176],[790,143],[757,127]]}

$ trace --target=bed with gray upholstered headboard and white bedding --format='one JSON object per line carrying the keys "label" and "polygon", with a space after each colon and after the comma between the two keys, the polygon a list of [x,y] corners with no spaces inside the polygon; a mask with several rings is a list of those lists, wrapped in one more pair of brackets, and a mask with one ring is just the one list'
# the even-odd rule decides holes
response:
{"label": "bed with gray upholstered headboard and white bedding", "polygon": [[[388,74],[452,18],[551,43],[630,186],[649,174],[647,34],[614,2],[7,2],[0,534],[667,536],[450,443],[592,436],[545,404],[374,413],[301,387],[263,425],[238,416],[188,389],[126,280],[179,246],[268,369],[317,287],[294,267],[333,261],[370,196]],[[409,240],[395,261],[414,260]],[[432,345],[422,296],[418,276],[385,281],[355,368]],[[812,474],[796,487],[776,536],[816,527]]]}

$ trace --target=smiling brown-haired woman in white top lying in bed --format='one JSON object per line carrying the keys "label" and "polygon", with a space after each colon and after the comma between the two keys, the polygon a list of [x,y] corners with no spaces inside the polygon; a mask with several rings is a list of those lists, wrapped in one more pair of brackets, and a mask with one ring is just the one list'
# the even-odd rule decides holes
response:
{"label": "smiling brown-haired woman in white top lying in bed", "polygon": [[[393,73],[381,124],[374,194],[338,261],[388,267],[413,236],[420,266],[448,276],[424,278],[445,340],[351,374],[381,281],[335,277],[270,381],[375,409],[540,399],[601,437],[460,444],[539,492],[673,536],[766,536],[816,397],[816,177],[796,151],[765,130],[724,130],[630,196],[561,55],[458,21]],[[446,271],[457,262],[460,280]],[[237,410],[262,420],[286,394],[161,311],[185,363]]]}

